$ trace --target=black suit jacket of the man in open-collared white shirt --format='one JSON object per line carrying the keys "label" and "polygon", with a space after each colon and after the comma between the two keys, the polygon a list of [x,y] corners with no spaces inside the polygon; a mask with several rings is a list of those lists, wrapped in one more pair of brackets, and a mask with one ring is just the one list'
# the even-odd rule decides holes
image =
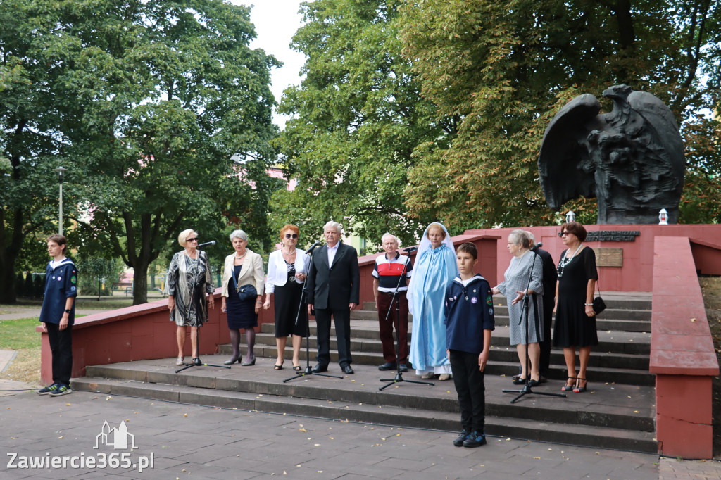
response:
{"label": "black suit jacket of the man in open-collared white shirt", "polygon": [[313,255],[306,281],[308,303],[315,308],[341,310],[349,303],[361,302],[361,271],[358,252],[340,242],[332,267],[328,266],[328,247],[321,246]]}

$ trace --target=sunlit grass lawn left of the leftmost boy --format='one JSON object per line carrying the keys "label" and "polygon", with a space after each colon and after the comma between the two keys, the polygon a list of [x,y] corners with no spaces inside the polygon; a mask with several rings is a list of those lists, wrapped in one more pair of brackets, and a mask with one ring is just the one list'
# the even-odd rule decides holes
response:
{"label": "sunlit grass lawn left of the leftmost boy", "polygon": [[0,320],[0,348],[17,350],[17,356],[0,378],[40,384],[40,334],[36,318]]}

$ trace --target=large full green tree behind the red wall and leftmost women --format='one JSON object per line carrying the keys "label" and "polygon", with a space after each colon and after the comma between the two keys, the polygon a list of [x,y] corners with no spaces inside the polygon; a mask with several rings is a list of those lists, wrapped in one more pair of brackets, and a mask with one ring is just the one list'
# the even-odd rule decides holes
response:
{"label": "large full green tree behind the red wall and leftmost women", "polygon": [[268,84],[278,62],[249,48],[248,8],[216,0],[25,1],[32,12],[19,30],[35,37],[37,51],[16,63],[39,64],[38,76],[48,70],[45,86],[35,88],[52,92],[48,104],[58,115],[43,139],[66,159],[86,200],[89,218],[71,215],[81,249],[102,246],[133,267],[133,303],[146,301],[148,266],[183,229],[210,239],[233,215],[265,236],[273,185],[266,168],[277,135]]}

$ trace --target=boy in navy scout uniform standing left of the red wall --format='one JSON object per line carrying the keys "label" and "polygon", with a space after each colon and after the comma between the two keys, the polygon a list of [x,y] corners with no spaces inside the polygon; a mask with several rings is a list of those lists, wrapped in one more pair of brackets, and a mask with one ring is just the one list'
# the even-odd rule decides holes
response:
{"label": "boy in navy scout uniform standing left of the red wall", "polygon": [[75,321],[75,297],[78,295],[78,270],[65,257],[68,240],[63,235],[48,237],[48,253],[53,257],[45,270],[45,297],[40,321],[48,332],[53,354],[53,383],[37,391],[40,395],[71,394],[70,374],[73,368],[71,332]]}

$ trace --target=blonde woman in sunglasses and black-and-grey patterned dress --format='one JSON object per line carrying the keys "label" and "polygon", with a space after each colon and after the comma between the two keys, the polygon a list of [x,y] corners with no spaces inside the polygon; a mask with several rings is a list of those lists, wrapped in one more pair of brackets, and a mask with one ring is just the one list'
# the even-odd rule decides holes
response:
{"label": "blonde woman in sunglasses and black-and-grey patterned dress", "polygon": [[[198,327],[208,321],[208,306],[213,308],[213,279],[208,267],[208,255],[198,250],[198,232],[187,229],[178,235],[178,243],[185,247],[173,255],[168,267],[165,293],[168,295],[170,321],[177,325],[175,338],[178,358],[175,365],[183,365],[185,337],[190,326],[193,363],[200,365],[198,355]],[[206,297],[207,303],[206,303]]]}

